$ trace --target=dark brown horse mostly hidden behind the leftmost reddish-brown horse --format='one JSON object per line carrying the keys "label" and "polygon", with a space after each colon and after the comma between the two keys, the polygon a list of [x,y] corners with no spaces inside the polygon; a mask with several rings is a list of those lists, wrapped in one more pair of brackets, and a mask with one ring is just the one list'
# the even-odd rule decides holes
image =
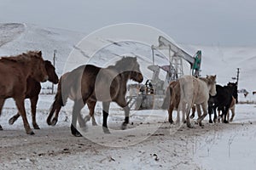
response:
{"label": "dark brown horse mostly hidden behind the leftmost reddish-brown horse", "polygon": [[[54,65],[51,64],[49,60],[44,61],[45,70],[47,71],[47,75],[49,77],[48,81],[57,84],[59,82],[59,77],[55,72]],[[26,99],[30,99],[31,102],[31,111],[32,111],[32,125],[35,129],[40,129],[38,123],[36,122],[36,111],[38,105],[38,95],[41,91],[40,82],[36,81],[32,77],[28,77],[26,80]],[[15,116],[12,116],[9,119],[9,124],[14,124],[15,121],[20,117],[20,113],[18,112]]]}

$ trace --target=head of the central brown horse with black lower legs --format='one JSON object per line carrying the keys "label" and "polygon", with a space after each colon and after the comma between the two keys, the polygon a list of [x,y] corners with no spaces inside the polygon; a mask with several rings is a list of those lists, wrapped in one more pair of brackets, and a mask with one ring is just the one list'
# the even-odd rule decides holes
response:
{"label": "head of the central brown horse with black lower legs", "polygon": [[135,82],[143,82],[143,74],[136,57],[123,57],[116,65],[119,66],[119,71],[128,73],[129,79]]}

